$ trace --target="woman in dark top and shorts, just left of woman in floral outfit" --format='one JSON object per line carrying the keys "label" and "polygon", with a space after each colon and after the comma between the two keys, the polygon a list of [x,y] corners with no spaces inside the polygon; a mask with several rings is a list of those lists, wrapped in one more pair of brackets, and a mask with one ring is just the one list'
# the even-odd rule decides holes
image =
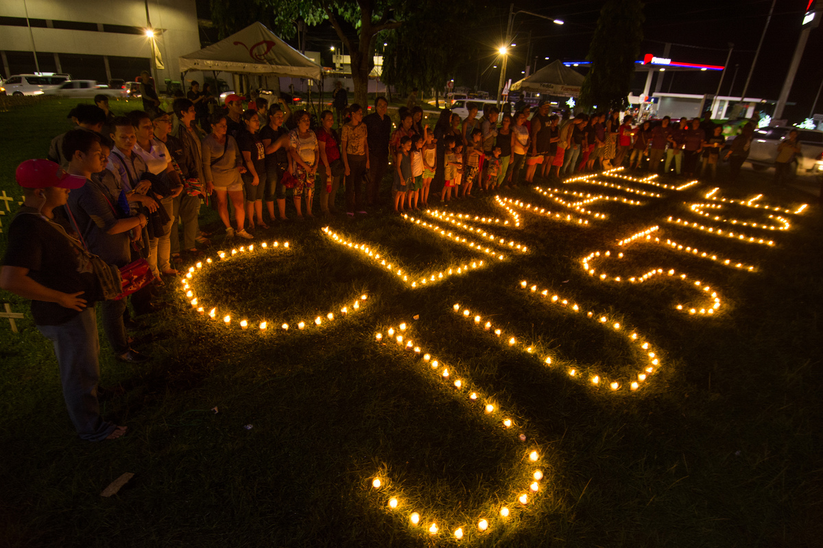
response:
{"label": "woman in dark top and shorts, just left of woman in floral outfit", "polygon": [[276,107],[268,109],[268,123],[260,130],[260,139],[266,150],[266,207],[268,218],[274,221],[274,199],[277,198],[277,210],[280,220],[286,221],[286,187],[283,186],[283,173],[291,173],[289,131],[283,127],[284,113]]}

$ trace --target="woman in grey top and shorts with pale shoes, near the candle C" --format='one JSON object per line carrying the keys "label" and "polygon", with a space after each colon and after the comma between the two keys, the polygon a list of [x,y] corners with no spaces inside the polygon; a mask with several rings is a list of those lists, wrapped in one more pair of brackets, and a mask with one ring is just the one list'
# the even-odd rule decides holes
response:
{"label": "woman in grey top and shorts with pale shoes, near the candle C", "polygon": [[[244,237],[252,239],[252,235],[245,231],[246,219],[243,207],[243,181],[240,173],[245,173],[243,159],[237,147],[235,138],[226,135],[229,124],[223,113],[212,116],[212,132],[203,139],[203,174],[206,176],[206,193],[214,191],[217,195],[217,214],[220,215],[226,227],[226,237]],[[235,207],[237,231],[231,228],[229,207],[226,196],[231,199]]]}

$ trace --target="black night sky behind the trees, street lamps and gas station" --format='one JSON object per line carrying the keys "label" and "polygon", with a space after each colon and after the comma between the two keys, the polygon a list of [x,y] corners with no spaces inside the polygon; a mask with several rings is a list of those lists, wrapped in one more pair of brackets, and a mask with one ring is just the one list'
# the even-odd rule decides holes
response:
{"label": "black night sky behind the trees, street lamps and gas station", "polygon": [[[645,5],[643,53],[663,56],[665,42],[671,42],[668,57],[675,61],[700,64],[724,65],[728,55],[728,44],[734,43],[734,51],[729,68],[723,80],[722,95],[741,94],[751,68],[755,50],[773,0],[649,0]],[[797,45],[803,13],[809,0],[778,0],[774,6],[769,30],[765,36],[760,58],[746,96],[760,99],[778,98],[783,85],[788,63]],[[198,2],[198,7],[202,4]],[[515,10],[522,9],[565,21],[565,25],[555,25],[534,16],[519,14],[514,21],[514,44],[509,59],[508,77],[517,81],[523,77],[527,49],[529,60],[537,58],[537,68],[555,59],[562,61],[583,60],[588,53],[597,17],[604,0],[546,1],[518,0]],[[486,2],[481,21],[475,28],[455,29],[455,39],[476,43],[475,58],[454,60],[454,79],[457,85],[475,87],[491,93],[495,91],[500,76],[496,48],[504,41],[506,21],[509,15],[509,1]],[[444,3],[448,6],[448,3]],[[205,12],[206,10],[201,10]],[[207,16],[207,13],[202,13]],[[529,35],[531,33],[531,35]],[[531,38],[531,44],[529,44]],[[327,52],[337,44],[337,35],[331,25],[324,24],[309,30],[307,49]],[[546,61],[546,57],[550,58]],[[737,75],[735,76],[737,70]],[[667,73],[661,91],[672,93],[714,94],[720,73],[679,72],[671,80],[673,72]],[[732,87],[733,80],[733,87]],[[823,26],[811,30],[805,54],[784,116],[790,121],[802,122],[808,117],[815,94],[823,81]],[[635,94],[643,90],[645,72],[635,78]],[[795,103],[795,105],[792,105]],[[823,113],[823,97],[818,100],[817,113]]]}

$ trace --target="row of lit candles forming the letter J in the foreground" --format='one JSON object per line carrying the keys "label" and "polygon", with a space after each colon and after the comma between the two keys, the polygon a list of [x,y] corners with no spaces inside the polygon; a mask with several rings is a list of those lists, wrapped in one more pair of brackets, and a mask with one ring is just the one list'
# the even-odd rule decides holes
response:
{"label": "row of lit candles forming the letter J in the foreground", "polygon": [[[503,418],[500,419],[500,409],[497,408],[495,403],[491,399],[478,394],[478,392],[472,389],[472,387],[468,384],[467,380],[458,377],[453,369],[452,371],[449,371],[449,366],[441,363],[429,353],[421,353],[423,352],[421,347],[417,346],[412,340],[406,338],[408,334],[407,324],[402,323],[398,325],[398,329],[389,327],[386,334],[387,337],[384,338],[383,333],[376,333],[374,334],[374,340],[377,343],[385,342],[387,344],[396,342],[399,348],[405,348],[407,351],[413,350],[414,355],[416,357],[420,357],[421,361],[428,365],[425,367],[426,370],[430,371],[434,375],[437,375],[440,380],[444,381],[444,383],[448,383],[449,386],[456,389],[459,393],[464,394],[469,403],[481,403],[486,416],[492,417],[495,424],[498,424],[502,430],[509,430],[512,426],[514,426],[514,421],[511,418],[503,416]],[[518,438],[521,441],[525,441],[526,435],[521,433],[518,435]],[[532,497],[541,490],[540,481],[542,481],[544,477],[543,472],[539,467],[532,468],[541,459],[541,454],[537,451],[537,449],[528,450],[524,457],[524,466],[531,468],[530,483],[527,489],[514,490],[511,495],[520,505],[523,506],[532,503]],[[481,516],[473,522],[474,525],[472,525],[472,527],[469,527],[467,524],[462,524],[459,526],[458,524],[455,524],[450,527],[444,527],[443,522],[438,518],[424,519],[421,516],[421,510],[406,508],[407,504],[405,504],[402,496],[400,495],[402,489],[393,488],[391,485],[392,482],[388,479],[385,473],[379,473],[374,477],[370,477],[370,483],[373,490],[379,491],[382,495],[384,495],[386,506],[390,512],[396,511],[398,513],[402,513],[407,516],[407,519],[412,527],[424,527],[425,532],[427,532],[430,536],[436,536],[441,534],[443,531],[449,531],[450,536],[460,540],[467,536],[470,532],[485,533],[493,529],[495,526],[502,526],[506,520],[511,517],[514,509],[513,502],[504,501],[502,504],[496,503],[497,507],[495,509],[495,514],[499,516],[498,519],[500,521],[496,521],[491,518],[491,516]],[[509,507],[512,508],[510,509]]]}

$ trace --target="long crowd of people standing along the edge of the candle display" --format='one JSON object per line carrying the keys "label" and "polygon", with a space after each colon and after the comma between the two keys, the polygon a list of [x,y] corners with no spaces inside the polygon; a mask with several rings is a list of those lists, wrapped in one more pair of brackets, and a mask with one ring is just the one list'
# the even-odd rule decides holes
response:
{"label": "long crowd of people standing along the edge of the candle display", "polygon": [[[303,220],[314,216],[316,191],[320,213],[337,214],[343,187],[342,209],[354,218],[385,205],[381,190],[388,175],[390,204],[399,213],[425,209],[438,191],[440,200],[466,200],[532,184],[535,177],[559,180],[617,166],[663,173],[673,166],[687,177],[702,169],[714,177],[725,145],[722,129],[698,118],[664,117],[654,127],[635,127],[621,113],[560,117],[542,101],[533,114],[525,104],[502,116],[494,105],[479,113],[469,104],[465,119],[444,109],[428,127],[413,93],[394,128],[384,97],[374,100],[370,114],[344,99],[337,93],[335,127],[332,111],[314,122],[305,110],[292,113],[282,99],[271,105],[256,99],[244,109],[230,94],[221,108],[196,82],[186,97],[174,99],[171,112],[146,93],[142,110],[115,116],[100,95],[95,104],[72,109],[75,127],[53,138],[47,159],[17,168],[25,202],[8,230],[0,288],[32,301],[35,325],[58,357],[81,439],[111,440],[125,432],[100,417],[95,302],[116,359],[149,359],[132,348],[128,330],[137,327],[135,316],[162,306],[164,277],[200,256],[198,244],[210,245],[212,234],[199,220],[204,204],[216,210],[227,238],[252,240],[268,223],[288,220],[289,194],[295,219]],[[732,179],[746,159],[752,129],[743,127],[726,152]],[[785,150],[778,162],[790,161],[792,150]],[[104,295],[95,258],[116,269],[146,261],[155,281],[128,297],[132,311],[126,298]]]}

